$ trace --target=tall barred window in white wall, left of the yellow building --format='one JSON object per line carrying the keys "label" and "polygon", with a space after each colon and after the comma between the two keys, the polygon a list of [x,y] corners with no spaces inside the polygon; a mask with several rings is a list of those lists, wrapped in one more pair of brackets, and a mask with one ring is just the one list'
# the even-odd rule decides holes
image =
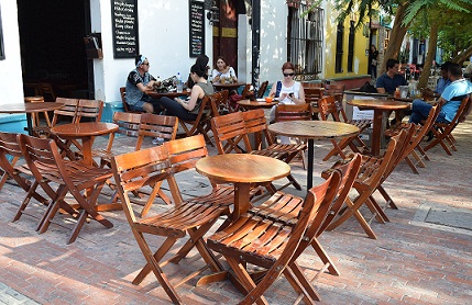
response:
{"label": "tall barred window in white wall, left of the yellow building", "polygon": [[315,8],[308,14],[305,3],[298,10],[288,8],[287,60],[295,66],[300,80],[317,79],[322,67],[322,33],[325,12]]}

